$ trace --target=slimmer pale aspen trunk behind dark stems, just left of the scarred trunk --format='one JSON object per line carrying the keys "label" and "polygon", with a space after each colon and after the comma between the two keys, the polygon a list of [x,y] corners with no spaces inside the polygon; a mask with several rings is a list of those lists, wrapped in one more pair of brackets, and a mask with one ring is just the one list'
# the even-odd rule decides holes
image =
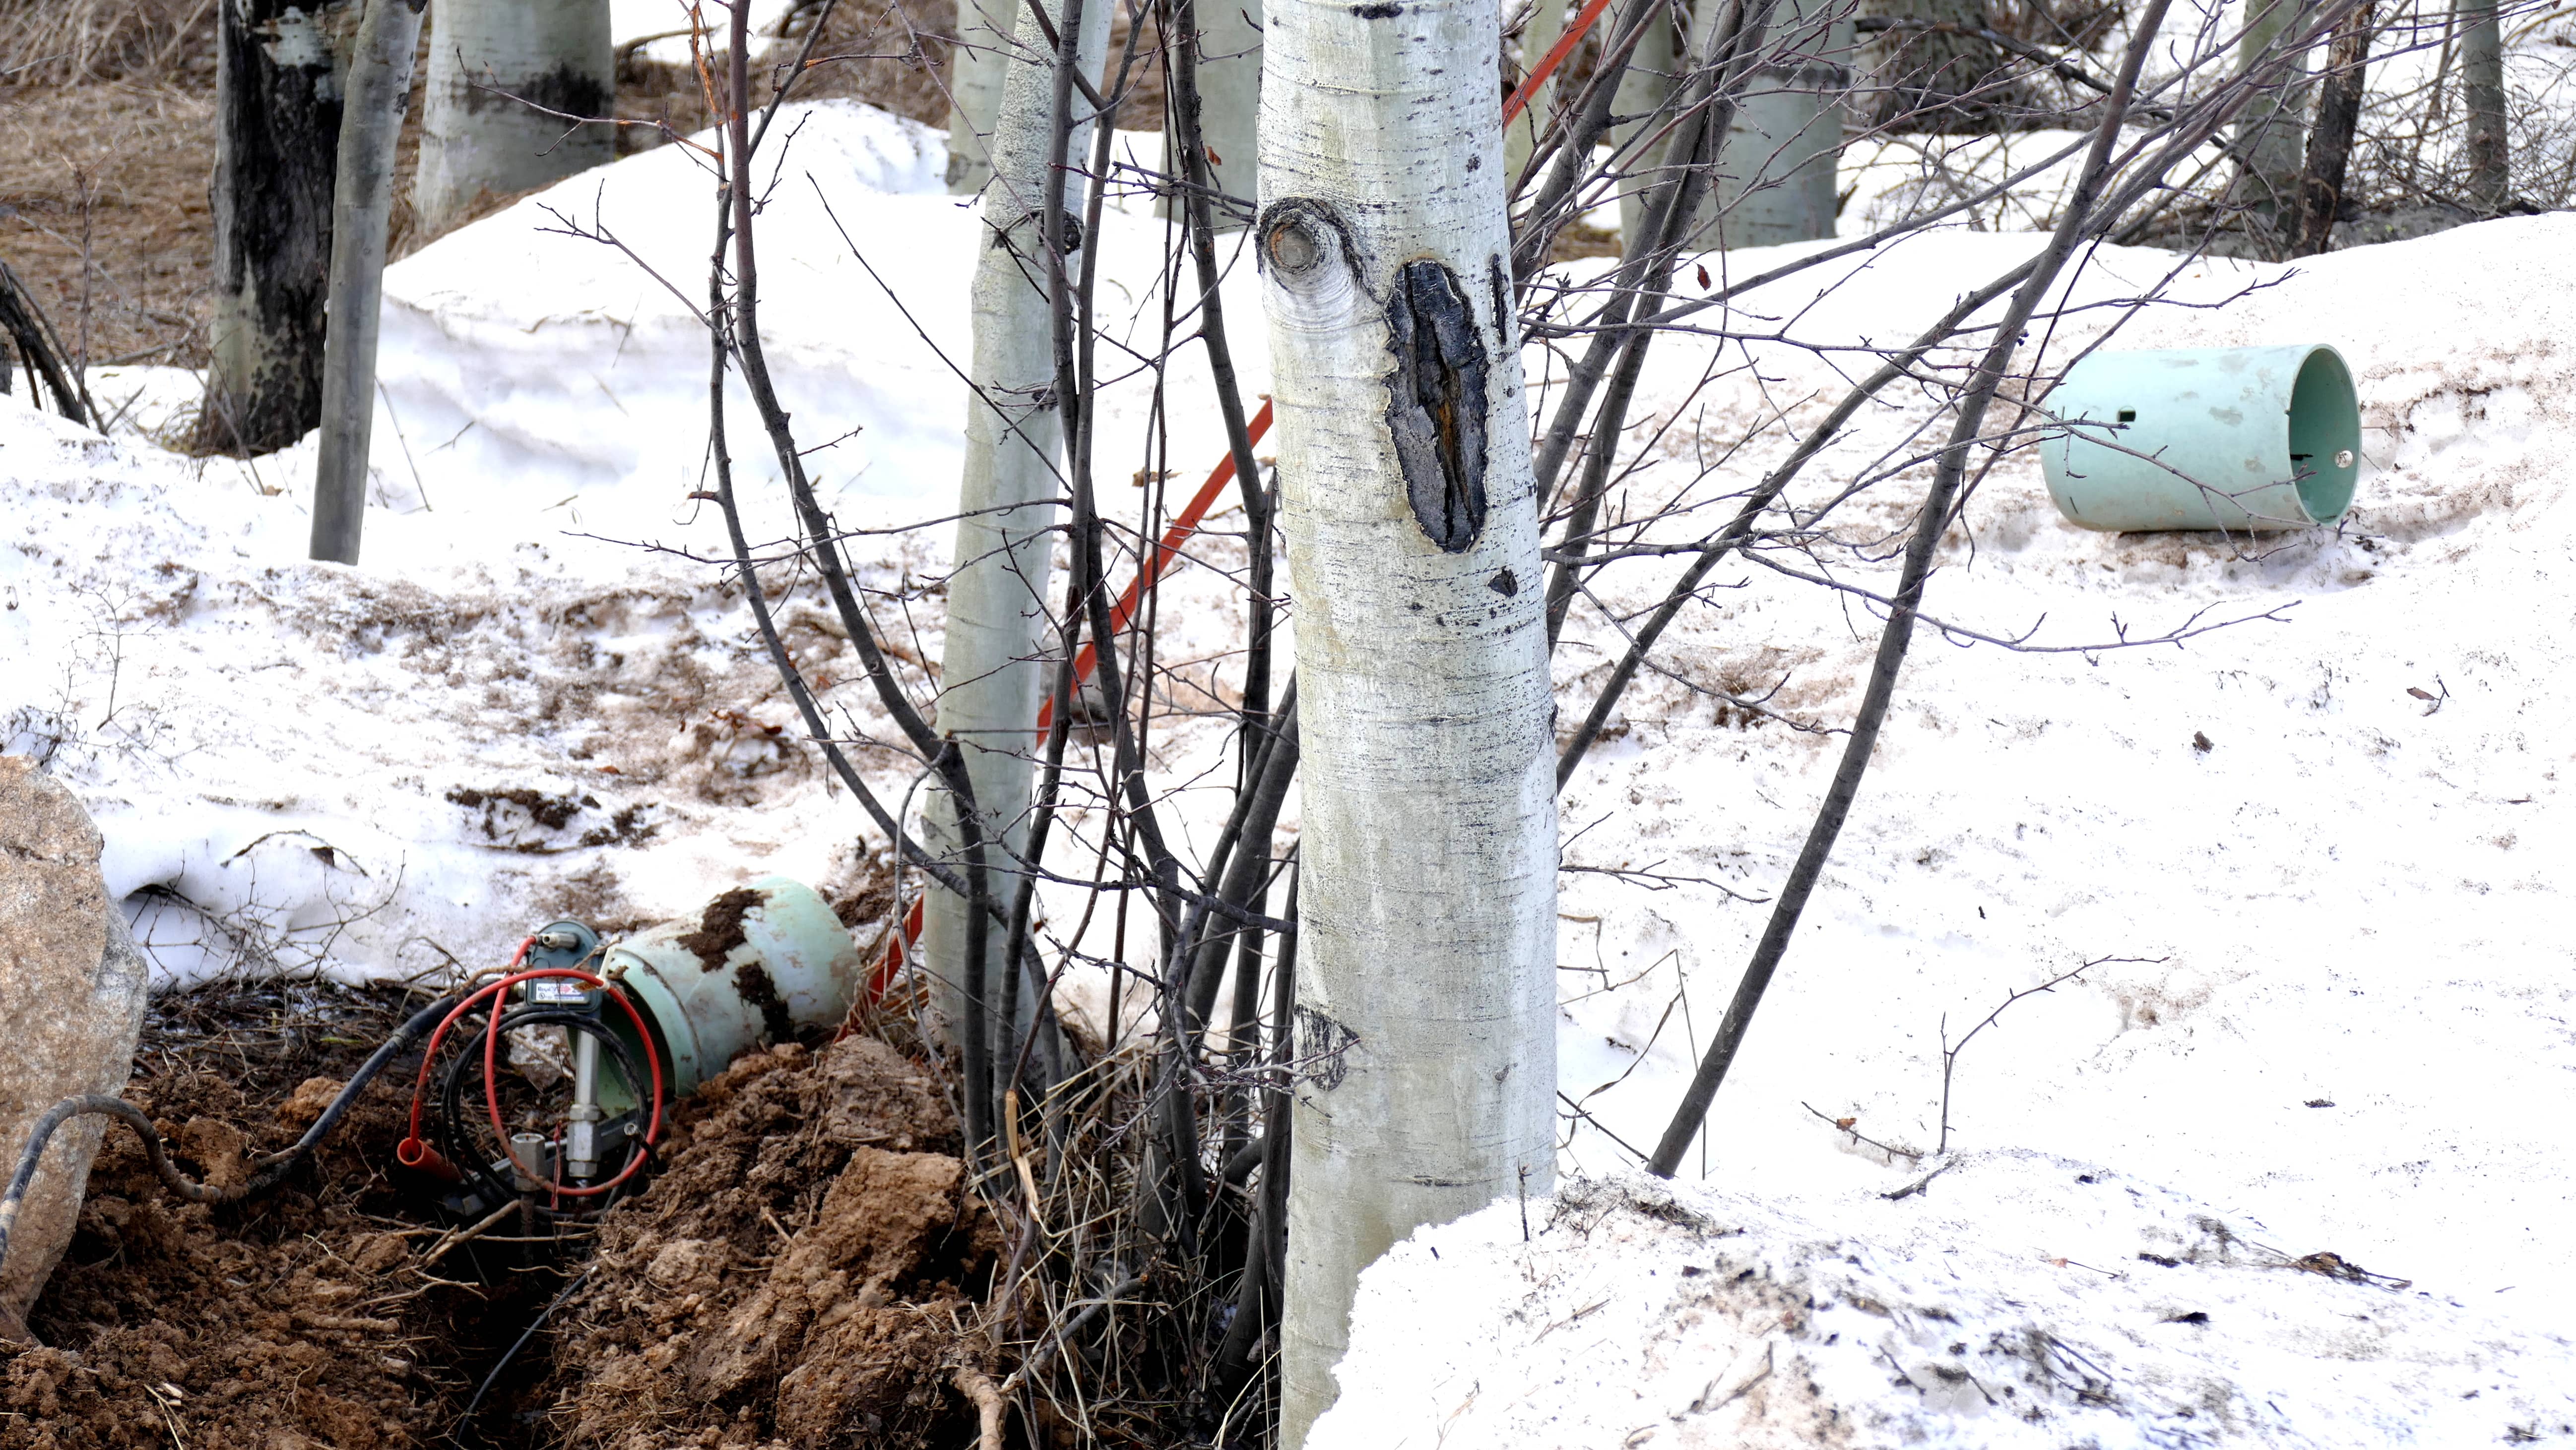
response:
{"label": "slimmer pale aspen trunk behind dark stems, just left of the scarred trunk", "polygon": [[[1048,15],[1061,15],[1061,0]],[[1082,5],[1082,75],[1097,77],[1108,54],[1110,3]],[[1046,258],[1038,252],[1048,165],[1054,67],[1033,18],[1020,21],[1018,49],[1002,77],[992,126],[994,180],[984,191],[984,237],[974,270],[974,343],[966,376],[981,397],[966,399],[966,469],[958,484],[956,569],[948,577],[948,639],[940,649],[940,734],[966,752],[987,842],[987,891],[1010,901],[1018,873],[1010,858],[1028,842],[1028,798],[1036,770],[1038,703],[1046,698],[1048,564],[1064,523],[1056,412],[1054,317],[1046,301]],[[1090,106],[1074,93],[1074,167],[1090,157]],[[1066,234],[1079,232],[1084,185],[1066,178]],[[1066,268],[1079,258],[1066,258]],[[933,786],[925,811],[930,850],[961,860],[956,798]],[[1005,932],[987,930],[984,999],[1002,1002]],[[938,984],[933,1007],[948,1033],[966,1022],[966,899],[930,889],[922,907],[922,961]],[[1036,994],[1020,994],[1020,1025],[1036,1020]]]}

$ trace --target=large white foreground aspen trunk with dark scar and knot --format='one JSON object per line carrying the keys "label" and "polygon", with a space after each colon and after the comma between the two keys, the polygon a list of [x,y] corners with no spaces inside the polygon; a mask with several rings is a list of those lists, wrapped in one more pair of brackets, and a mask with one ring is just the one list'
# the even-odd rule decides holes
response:
{"label": "large white foreground aspen trunk with dark scar and knot", "polygon": [[1273,0],[1262,299],[1301,904],[1280,1435],[1360,1270],[1546,1192],[1556,801],[1494,0]]}

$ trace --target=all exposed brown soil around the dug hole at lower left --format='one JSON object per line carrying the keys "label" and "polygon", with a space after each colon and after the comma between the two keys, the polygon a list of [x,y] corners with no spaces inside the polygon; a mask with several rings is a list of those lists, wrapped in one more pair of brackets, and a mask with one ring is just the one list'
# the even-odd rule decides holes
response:
{"label": "all exposed brown soil around the dug hole at lower left", "polygon": [[[129,1097],[188,1172],[237,1180],[420,1002],[165,994]],[[173,1200],[134,1136],[111,1131],[31,1313],[41,1344],[0,1344],[0,1450],[971,1437],[951,1370],[976,1362],[981,1339],[961,1326],[997,1236],[961,1192],[956,1118],[899,1051],[755,1053],[677,1107],[659,1177],[587,1241],[505,1226],[446,1254],[456,1223],[392,1164],[415,1066],[397,1061],[283,1190],[247,1205]],[[567,1285],[546,1332],[526,1334]]]}

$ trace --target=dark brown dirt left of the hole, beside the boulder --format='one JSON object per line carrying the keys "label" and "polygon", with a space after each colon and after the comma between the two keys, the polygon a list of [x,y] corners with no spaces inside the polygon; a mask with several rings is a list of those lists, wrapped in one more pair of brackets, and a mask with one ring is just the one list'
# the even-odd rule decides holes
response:
{"label": "dark brown dirt left of the hole, beside the boulder", "polygon": [[[152,1004],[126,1097],[188,1172],[240,1182],[407,1012],[399,992],[296,992],[222,1012]],[[562,1280],[407,1272],[433,1234],[394,1218],[386,1180],[407,1084],[379,1077],[286,1187],[242,1205],[173,1200],[134,1133],[111,1128],[72,1249],[28,1316],[41,1344],[0,1347],[0,1450],[376,1450],[443,1432],[471,1386],[459,1365],[495,1352],[477,1326],[515,1332],[531,1313],[515,1301]]]}

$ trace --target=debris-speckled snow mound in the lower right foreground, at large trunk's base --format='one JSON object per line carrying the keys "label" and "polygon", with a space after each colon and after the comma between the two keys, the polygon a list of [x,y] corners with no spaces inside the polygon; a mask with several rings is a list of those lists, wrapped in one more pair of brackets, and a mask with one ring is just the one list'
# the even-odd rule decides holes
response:
{"label": "debris-speckled snow mound in the lower right foreground, at large trunk's base", "polygon": [[1579,1180],[1425,1229],[1370,1267],[1342,1398],[1309,1445],[2576,1437],[2563,1334],[2267,1239],[2030,1151],[1963,1154],[1893,1200]]}

